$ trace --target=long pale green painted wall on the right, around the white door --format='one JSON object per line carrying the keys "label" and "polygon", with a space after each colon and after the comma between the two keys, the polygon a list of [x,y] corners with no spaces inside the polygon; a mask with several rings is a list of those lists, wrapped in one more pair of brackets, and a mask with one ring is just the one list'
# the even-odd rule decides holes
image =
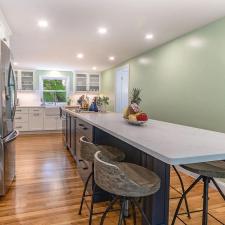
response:
{"label": "long pale green painted wall on the right, around the white door", "polygon": [[[127,63],[130,88],[142,89],[142,108],[151,118],[225,132],[225,19]],[[114,83],[115,68],[104,71],[101,90],[111,109]]]}

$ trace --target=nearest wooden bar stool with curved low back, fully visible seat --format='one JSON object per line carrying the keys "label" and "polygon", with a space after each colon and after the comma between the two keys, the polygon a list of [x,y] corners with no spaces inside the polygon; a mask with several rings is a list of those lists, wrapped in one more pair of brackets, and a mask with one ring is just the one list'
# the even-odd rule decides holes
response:
{"label": "nearest wooden bar stool with curved low back, fully visible seat", "polygon": [[136,225],[136,207],[149,225],[147,216],[135,198],[155,194],[160,189],[160,178],[152,171],[136,164],[112,162],[101,151],[95,154],[94,164],[95,183],[115,196],[105,210],[100,225],[103,225],[107,213],[118,199],[121,201],[118,225],[126,224],[124,212],[127,201],[132,206],[134,225]]}

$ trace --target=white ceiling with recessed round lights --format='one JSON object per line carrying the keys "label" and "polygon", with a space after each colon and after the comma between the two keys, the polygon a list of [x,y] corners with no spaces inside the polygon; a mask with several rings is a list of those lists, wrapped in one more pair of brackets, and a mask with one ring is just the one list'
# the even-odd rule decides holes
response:
{"label": "white ceiling with recessed round lights", "polygon": [[[225,16],[224,0],[0,0],[0,8],[20,67],[63,70],[104,70]],[[144,39],[148,32],[154,40]]]}

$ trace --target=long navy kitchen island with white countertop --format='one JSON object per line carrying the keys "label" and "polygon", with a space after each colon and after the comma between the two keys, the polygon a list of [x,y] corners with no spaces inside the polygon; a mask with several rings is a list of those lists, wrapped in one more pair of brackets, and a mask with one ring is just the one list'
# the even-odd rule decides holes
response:
{"label": "long navy kitchen island with white countertop", "polygon": [[[76,118],[76,131],[70,139],[75,135],[79,140],[85,135],[96,144],[117,146],[125,152],[126,161],[160,176],[160,191],[144,200],[144,210],[153,225],[168,224],[170,165],[225,160],[223,133],[156,120],[133,126],[118,113],[76,113],[68,109],[64,112],[70,120]],[[75,146],[76,161],[83,171],[88,170],[90,166],[79,158],[79,141]]]}

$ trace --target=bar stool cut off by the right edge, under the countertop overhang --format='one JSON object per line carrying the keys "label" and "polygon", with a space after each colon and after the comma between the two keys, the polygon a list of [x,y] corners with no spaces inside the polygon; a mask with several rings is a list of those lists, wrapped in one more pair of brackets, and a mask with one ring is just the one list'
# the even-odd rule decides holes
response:
{"label": "bar stool cut off by the right edge, under the countertop overhang", "polygon": [[[193,212],[201,212],[202,211],[202,225],[208,224],[208,215],[211,216],[212,218],[214,218],[217,222],[224,224],[208,212],[208,197],[209,197],[208,191],[209,191],[209,183],[212,181],[212,183],[215,185],[216,189],[218,190],[218,192],[220,193],[222,198],[225,200],[224,193],[222,192],[219,185],[217,184],[217,182],[214,179],[214,178],[225,178],[225,161],[194,163],[194,164],[182,165],[181,167],[183,167],[184,169],[186,169],[190,172],[198,174],[199,177],[191,184],[191,186],[182,195],[182,197],[178,203],[178,206],[177,206],[177,209],[176,209],[173,221],[172,221],[172,225],[175,224],[177,217],[179,215],[181,215],[181,214],[179,214],[179,210],[180,210],[180,207],[181,207],[181,204],[182,204],[184,198],[200,181],[203,181],[203,184],[204,184],[203,209],[193,211]],[[193,213],[193,212],[190,212],[190,213]]]}

